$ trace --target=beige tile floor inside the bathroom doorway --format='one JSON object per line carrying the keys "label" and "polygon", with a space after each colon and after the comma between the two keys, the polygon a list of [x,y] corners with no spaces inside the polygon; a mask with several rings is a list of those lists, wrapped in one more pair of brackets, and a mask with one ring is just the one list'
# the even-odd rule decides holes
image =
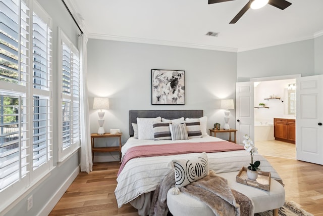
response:
{"label": "beige tile floor inside the bathroom doorway", "polygon": [[295,144],[277,140],[256,141],[255,147],[258,148],[258,153],[262,155],[296,159]]}

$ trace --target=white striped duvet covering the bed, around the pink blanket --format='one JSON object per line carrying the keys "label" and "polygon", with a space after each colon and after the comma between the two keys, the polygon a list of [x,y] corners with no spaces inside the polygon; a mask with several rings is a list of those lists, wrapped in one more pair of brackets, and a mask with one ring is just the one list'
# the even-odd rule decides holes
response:
{"label": "white striped duvet covering the bed, around the pink blanket", "polygon": [[[194,138],[189,140],[138,140],[129,138],[122,147],[122,155],[125,155],[131,147],[152,144],[172,144],[179,142],[211,142],[223,141],[216,137]],[[198,144],[197,144],[198,145]],[[171,169],[169,162],[174,158],[188,158],[199,153],[189,153],[180,155],[140,157],[129,160],[124,166],[122,172],[117,178],[117,187],[115,195],[118,207],[137,198],[139,195],[154,191],[156,186],[163,180],[164,176]],[[242,166],[248,166],[250,163],[249,152],[245,150],[207,153],[209,169],[220,172],[238,171]],[[262,171],[271,171],[272,178],[280,179],[276,170],[261,155],[255,155],[254,160],[260,160]]]}

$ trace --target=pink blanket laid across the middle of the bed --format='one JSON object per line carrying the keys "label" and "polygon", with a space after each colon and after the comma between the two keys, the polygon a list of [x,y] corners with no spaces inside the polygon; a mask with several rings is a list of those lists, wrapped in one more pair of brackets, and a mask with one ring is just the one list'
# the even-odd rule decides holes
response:
{"label": "pink blanket laid across the middle of the bed", "polygon": [[118,175],[122,171],[126,163],[137,157],[152,157],[162,155],[176,155],[188,153],[211,153],[211,152],[224,152],[236,151],[244,149],[243,146],[228,142],[202,142],[202,143],[173,143],[173,144],[158,144],[158,145],[145,145],[130,148],[125,154]]}

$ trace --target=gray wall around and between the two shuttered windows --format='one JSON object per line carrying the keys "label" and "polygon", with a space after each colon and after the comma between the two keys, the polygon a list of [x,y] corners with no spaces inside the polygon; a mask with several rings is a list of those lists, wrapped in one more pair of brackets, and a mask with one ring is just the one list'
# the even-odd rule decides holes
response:
{"label": "gray wall around and between the two shuttered windows", "polygon": [[[45,11],[52,18],[52,42],[53,42],[53,80],[57,80],[57,46],[58,46],[58,27],[63,29],[64,33],[70,38],[73,44],[77,47],[77,35],[79,33],[77,26],[74,24],[72,18],[68,14],[62,1],[48,1],[48,0],[38,0],[39,4],[45,9]],[[56,82],[53,85],[53,106],[57,106],[58,102],[58,87]],[[57,190],[61,188],[66,179],[71,175],[71,173],[79,166],[80,156],[79,152],[74,154],[66,162],[58,166],[58,134],[57,134],[57,110],[53,109],[53,119],[54,119],[54,131],[53,131],[53,166],[56,166],[50,173],[49,177],[45,179],[36,189],[31,193],[27,194],[22,201],[20,201],[13,209],[11,209],[6,215],[25,215],[34,216],[39,213],[39,211],[46,205],[50,198],[56,194]],[[33,207],[27,212],[27,198],[33,195]]]}

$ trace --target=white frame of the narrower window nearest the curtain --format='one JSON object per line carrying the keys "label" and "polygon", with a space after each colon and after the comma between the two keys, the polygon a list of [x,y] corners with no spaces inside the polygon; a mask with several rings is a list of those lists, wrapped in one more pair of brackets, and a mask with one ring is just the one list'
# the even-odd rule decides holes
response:
{"label": "white frame of the narrower window nearest the curtain", "polygon": [[[66,36],[61,28],[58,28],[58,89],[60,90],[60,100],[58,104],[58,162],[63,162],[73,153],[75,153],[81,145],[80,142],[80,53],[78,49],[73,45],[71,40]],[[69,53],[69,68],[66,68],[66,61],[63,60],[64,46],[68,47]],[[76,56],[76,57],[75,57]],[[76,64],[77,62],[77,64]],[[67,74],[64,73],[64,68],[69,69],[69,79],[64,79],[63,77]],[[74,74],[78,73],[78,77]],[[78,85],[77,85],[78,84]],[[75,87],[78,86],[78,90]],[[77,91],[78,94],[75,94]],[[64,106],[65,103],[69,103],[69,106]],[[77,103],[78,106],[74,104]],[[66,108],[68,110],[65,110]],[[75,113],[77,112],[77,116]],[[66,115],[65,115],[66,114]],[[76,124],[76,118],[78,118],[78,123]],[[65,124],[67,123],[68,124]],[[68,129],[64,130],[68,125]],[[78,133],[77,133],[78,132]],[[67,142],[63,142],[67,140]],[[67,144],[67,145],[66,145]]]}

